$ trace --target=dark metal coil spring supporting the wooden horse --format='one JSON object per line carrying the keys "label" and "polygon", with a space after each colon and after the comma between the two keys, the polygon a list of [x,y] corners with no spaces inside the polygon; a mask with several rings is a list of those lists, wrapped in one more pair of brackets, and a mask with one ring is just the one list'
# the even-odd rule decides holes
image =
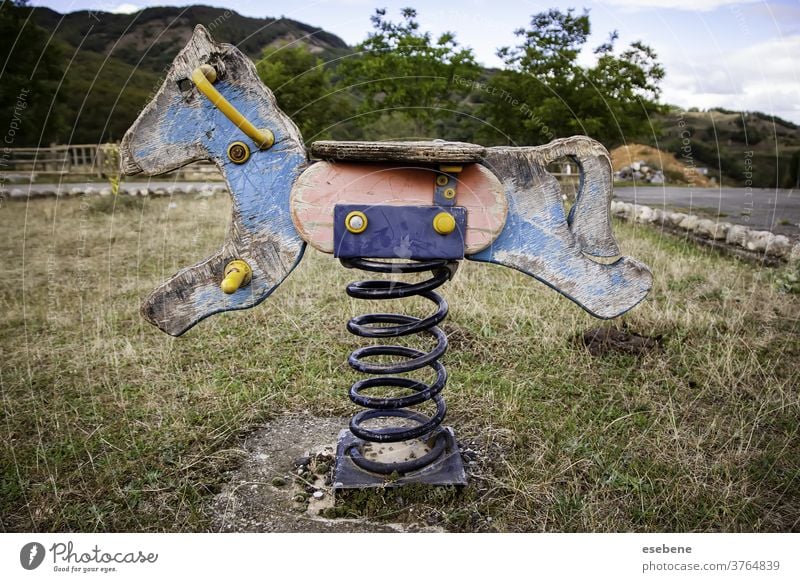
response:
{"label": "dark metal coil spring supporting the wooden horse", "polygon": [[[359,380],[350,387],[350,400],[368,410],[359,412],[350,420],[350,432],[362,441],[374,443],[394,443],[410,439],[423,438],[431,443],[428,453],[398,463],[385,463],[366,459],[360,446],[353,445],[346,451],[353,462],[366,471],[389,474],[408,473],[421,469],[435,461],[445,449],[445,435],[439,428],[447,413],[447,406],[441,391],[447,383],[447,371],[439,358],[447,350],[447,336],[437,327],[447,316],[447,301],[434,289],[446,283],[455,273],[457,263],[446,260],[380,262],[368,259],[340,259],[345,267],[358,268],[378,273],[422,273],[430,271],[432,276],[420,283],[398,281],[358,281],[347,286],[347,294],[357,299],[400,299],[418,295],[432,301],[436,312],[425,318],[394,313],[372,313],[353,317],[347,323],[347,330],[357,336],[366,338],[400,337],[427,332],[436,338],[436,347],[423,352],[404,346],[377,345],[359,348],[350,354],[348,363],[352,368],[365,374],[379,374],[374,378]],[[379,363],[368,362],[365,358],[378,356],[400,356],[405,361]],[[436,373],[432,384],[411,378],[386,374],[402,374],[430,366]],[[376,397],[364,394],[369,389],[378,387],[403,388],[412,393],[406,396]],[[432,400],[436,405],[433,416],[406,410]],[[388,426],[367,428],[369,420],[379,418],[399,418],[412,421],[414,426]]]}

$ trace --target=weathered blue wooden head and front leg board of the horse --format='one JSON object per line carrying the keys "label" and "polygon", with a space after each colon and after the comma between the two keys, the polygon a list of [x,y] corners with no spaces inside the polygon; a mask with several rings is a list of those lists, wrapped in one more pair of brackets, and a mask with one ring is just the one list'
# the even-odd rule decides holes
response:
{"label": "weathered blue wooden head and front leg board of the horse", "polygon": [[[181,90],[201,64],[217,70],[216,89],[257,127],[275,134],[259,150],[193,85]],[[232,141],[250,146],[242,164],[226,156]],[[222,247],[204,261],[176,273],[143,303],[143,316],[171,335],[180,335],[220,311],[246,309],[266,298],[300,260],[305,243],[289,214],[289,192],[307,165],[300,133],[259,80],[252,62],[235,47],[214,42],[202,26],[175,58],[154,99],[121,144],[126,174],[159,174],[196,160],[222,170],[233,198],[231,223]],[[252,281],[231,295],[220,289],[225,265],[247,261]]]}

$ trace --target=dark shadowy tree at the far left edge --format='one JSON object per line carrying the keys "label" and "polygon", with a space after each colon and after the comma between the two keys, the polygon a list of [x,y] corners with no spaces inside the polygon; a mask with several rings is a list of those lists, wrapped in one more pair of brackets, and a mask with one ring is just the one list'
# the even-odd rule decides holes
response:
{"label": "dark shadowy tree at the far left edge", "polygon": [[53,98],[61,78],[61,51],[28,20],[30,10],[26,0],[0,3],[0,123],[6,147],[47,143],[63,129],[62,106]]}

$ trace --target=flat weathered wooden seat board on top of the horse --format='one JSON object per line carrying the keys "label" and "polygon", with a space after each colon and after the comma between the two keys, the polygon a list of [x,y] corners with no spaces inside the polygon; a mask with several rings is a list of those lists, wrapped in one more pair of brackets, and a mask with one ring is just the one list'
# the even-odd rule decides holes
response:
{"label": "flat weathered wooden seat board on top of the horse", "polygon": [[473,163],[484,146],[458,141],[315,141],[311,157],[333,162]]}

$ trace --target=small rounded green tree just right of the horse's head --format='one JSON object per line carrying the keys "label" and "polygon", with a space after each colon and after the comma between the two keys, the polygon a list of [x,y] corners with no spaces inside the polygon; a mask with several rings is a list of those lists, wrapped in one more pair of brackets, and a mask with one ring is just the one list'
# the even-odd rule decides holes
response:
{"label": "small rounded green tree just right of the horse's head", "polygon": [[268,47],[256,70],[305,139],[339,137],[336,122],[349,117],[352,106],[335,91],[331,72],[308,47]]}

